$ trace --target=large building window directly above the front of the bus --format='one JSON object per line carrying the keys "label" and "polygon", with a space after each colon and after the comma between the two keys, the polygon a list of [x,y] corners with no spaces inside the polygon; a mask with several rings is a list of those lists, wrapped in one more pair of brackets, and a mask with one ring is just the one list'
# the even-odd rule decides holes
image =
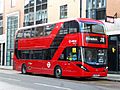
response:
{"label": "large building window directly above the front of the bus", "polygon": [[97,20],[105,19],[106,0],[87,0],[86,17]]}

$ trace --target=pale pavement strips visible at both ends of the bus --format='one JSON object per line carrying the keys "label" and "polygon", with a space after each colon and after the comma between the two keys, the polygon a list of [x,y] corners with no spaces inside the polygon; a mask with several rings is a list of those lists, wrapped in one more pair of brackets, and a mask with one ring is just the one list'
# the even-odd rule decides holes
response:
{"label": "pale pavement strips visible at both ends of the bus", "polygon": [[[13,70],[13,66],[0,66],[0,70]],[[93,77],[93,78],[120,82],[120,74],[109,74],[108,73],[107,77]]]}

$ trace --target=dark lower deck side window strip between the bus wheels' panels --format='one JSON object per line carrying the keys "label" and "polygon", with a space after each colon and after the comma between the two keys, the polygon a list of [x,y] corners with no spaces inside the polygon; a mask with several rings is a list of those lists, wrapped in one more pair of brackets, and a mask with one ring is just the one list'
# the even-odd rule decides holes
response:
{"label": "dark lower deck side window strip between the bus wheels' panels", "polygon": [[55,49],[43,49],[43,50],[17,50],[15,54],[18,59],[30,59],[30,60],[50,60],[54,56]]}

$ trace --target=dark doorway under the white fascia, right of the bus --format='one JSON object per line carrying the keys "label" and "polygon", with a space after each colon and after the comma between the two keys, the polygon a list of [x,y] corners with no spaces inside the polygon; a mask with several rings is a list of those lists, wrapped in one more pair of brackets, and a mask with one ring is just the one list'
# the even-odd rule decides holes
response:
{"label": "dark doorway under the white fascia, right of the bus", "polygon": [[120,71],[120,40],[118,35],[109,36],[108,41],[108,70]]}

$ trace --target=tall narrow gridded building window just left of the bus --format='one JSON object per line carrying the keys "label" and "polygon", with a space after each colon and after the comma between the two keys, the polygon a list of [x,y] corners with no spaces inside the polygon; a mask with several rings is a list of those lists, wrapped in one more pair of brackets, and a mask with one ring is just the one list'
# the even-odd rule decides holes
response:
{"label": "tall narrow gridded building window just left of the bus", "polygon": [[12,53],[14,50],[14,37],[15,32],[18,29],[18,16],[7,17],[7,42],[6,42],[6,64],[12,65]]}

